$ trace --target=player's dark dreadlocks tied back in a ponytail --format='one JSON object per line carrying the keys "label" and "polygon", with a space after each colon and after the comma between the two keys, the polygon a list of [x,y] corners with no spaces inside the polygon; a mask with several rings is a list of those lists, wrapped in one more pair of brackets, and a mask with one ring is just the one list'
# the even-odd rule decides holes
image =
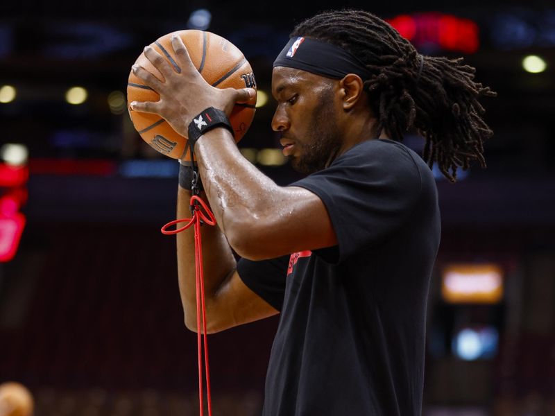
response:
{"label": "player's dark dreadlocks tied back in a ponytail", "polygon": [[402,141],[414,129],[425,138],[422,158],[456,181],[477,160],[482,168],[484,139],[493,131],[481,118],[480,96],[496,96],[475,83],[475,68],[463,58],[420,55],[386,21],[364,10],[331,10],[311,17],[293,29],[305,36],[340,46],[357,56],[375,75],[364,80],[370,107],[377,117],[377,136],[383,130]]}

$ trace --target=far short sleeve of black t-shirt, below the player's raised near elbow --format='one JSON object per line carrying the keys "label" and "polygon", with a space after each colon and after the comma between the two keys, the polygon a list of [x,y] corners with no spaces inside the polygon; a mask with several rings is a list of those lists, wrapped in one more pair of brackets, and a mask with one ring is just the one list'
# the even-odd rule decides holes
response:
{"label": "far short sleeve of black t-shirt, below the player's raised near elbow", "polygon": [[281,311],[288,265],[289,255],[261,261],[241,258],[237,261],[237,272],[251,291]]}

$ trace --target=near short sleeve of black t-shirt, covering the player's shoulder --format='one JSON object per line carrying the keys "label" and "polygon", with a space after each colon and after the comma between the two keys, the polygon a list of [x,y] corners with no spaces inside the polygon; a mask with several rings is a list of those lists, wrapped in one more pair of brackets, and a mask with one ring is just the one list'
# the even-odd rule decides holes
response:
{"label": "near short sleeve of black t-shirt, covering the player's shoulder", "polygon": [[374,139],[350,148],[329,168],[289,186],[308,189],[323,201],[339,250],[315,254],[337,264],[359,250],[379,245],[405,223],[418,199],[421,180],[409,148]]}

